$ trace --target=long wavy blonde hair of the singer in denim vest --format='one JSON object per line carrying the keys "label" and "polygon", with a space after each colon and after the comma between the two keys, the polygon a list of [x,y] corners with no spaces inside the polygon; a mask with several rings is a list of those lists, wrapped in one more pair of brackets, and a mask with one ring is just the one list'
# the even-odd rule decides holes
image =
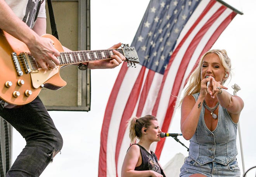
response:
{"label": "long wavy blonde hair of the singer in denim vest", "polygon": [[[225,72],[230,73],[231,72],[231,61],[230,58],[227,55],[226,50],[219,50],[219,49],[213,49],[209,50],[208,52],[204,53],[204,55],[201,57],[199,64],[197,65],[196,69],[191,73],[188,79],[188,86],[184,91],[183,97],[180,100],[179,105],[181,105],[183,98],[188,95],[193,95],[195,93],[199,93],[201,89],[201,67],[204,57],[209,53],[215,53],[219,56],[220,62],[225,68]],[[230,75],[229,75],[230,76]],[[227,79],[227,78],[226,78]],[[224,84],[226,81],[223,80],[221,84]]]}

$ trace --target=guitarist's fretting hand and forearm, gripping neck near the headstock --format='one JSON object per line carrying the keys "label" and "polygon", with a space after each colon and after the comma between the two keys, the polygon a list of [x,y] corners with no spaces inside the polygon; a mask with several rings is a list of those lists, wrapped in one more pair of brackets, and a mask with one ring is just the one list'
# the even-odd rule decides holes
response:
{"label": "guitarist's fretting hand and forearm, gripping neck near the headstock", "polygon": [[[122,43],[118,43],[116,45],[113,45],[109,49],[112,48],[119,48],[122,45]],[[101,61],[95,61],[95,62],[89,62],[88,68],[89,69],[106,69],[106,68],[114,68],[117,67],[119,64],[121,64],[123,61],[125,61],[125,56],[123,56],[120,52],[113,50],[113,53],[115,55],[111,55],[112,60],[101,60]]]}

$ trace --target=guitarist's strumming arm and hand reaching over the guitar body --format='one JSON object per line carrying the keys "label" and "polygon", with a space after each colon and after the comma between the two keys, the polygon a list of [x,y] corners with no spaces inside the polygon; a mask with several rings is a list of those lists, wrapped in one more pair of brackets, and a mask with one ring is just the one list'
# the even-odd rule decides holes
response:
{"label": "guitarist's strumming arm and hand reaching over the guitar body", "polygon": [[[41,22],[38,22],[37,25],[39,24]],[[43,69],[55,68],[55,64],[59,64],[56,57],[59,56],[59,51],[54,48],[52,41],[49,38],[40,37],[38,31],[35,32],[30,29],[14,14],[4,0],[0,0],[0,29],[24,42],[28,46],[31,55]]]}

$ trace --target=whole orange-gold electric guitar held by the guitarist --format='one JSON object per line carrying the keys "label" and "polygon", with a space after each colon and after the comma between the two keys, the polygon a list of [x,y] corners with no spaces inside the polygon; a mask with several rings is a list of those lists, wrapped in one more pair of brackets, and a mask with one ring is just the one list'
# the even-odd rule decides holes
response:
{"label": "whole orange-gold electric guitar held by the guitarist", "polygon": [[[54,69],[43,70],[30,55],[28,47],[5,31],[0,30],[0,102],[10,105],[24,105],[33,101],[43,87],[57,90],[66,86],[59,70],[63,65],[79,64],[97,60],[112,59],[113,49],[64,52],[61,43],[50,34],[42,37],[54,41],[54,47],[60,52],[60,64]],[[128,67],[139,63],[134,47],[123,45],[115,49],[122,53]],[[8,105],[7,104],[7,105]]]}

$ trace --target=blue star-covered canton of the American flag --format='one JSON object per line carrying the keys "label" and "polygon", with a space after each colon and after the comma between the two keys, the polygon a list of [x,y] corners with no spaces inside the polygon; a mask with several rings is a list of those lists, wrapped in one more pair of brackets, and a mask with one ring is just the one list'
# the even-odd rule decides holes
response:
{"label": "blue star-covered canton of the American flag", "polygon": [[140,64],[164,74],[180,32],[200,0],[151,0],[131,43]]}

